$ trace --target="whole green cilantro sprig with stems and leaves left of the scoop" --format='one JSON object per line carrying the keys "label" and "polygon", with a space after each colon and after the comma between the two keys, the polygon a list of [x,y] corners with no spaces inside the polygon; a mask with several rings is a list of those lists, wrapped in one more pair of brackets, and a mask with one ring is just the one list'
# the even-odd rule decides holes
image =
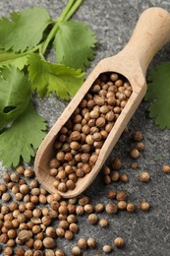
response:
{"label": "whole green cilantro sprig with stems and leaves left of the scoop", "polygon": [[[34,157],[47,124],[33,107],[33,94],[69,100],[82,86],[96,38],[70,21],[83,0],[69,0],[52,20],[45,8],[28,8],[0,19],[0,160],[17,166]],[[55,63],[46,60],[49,47]]]}

